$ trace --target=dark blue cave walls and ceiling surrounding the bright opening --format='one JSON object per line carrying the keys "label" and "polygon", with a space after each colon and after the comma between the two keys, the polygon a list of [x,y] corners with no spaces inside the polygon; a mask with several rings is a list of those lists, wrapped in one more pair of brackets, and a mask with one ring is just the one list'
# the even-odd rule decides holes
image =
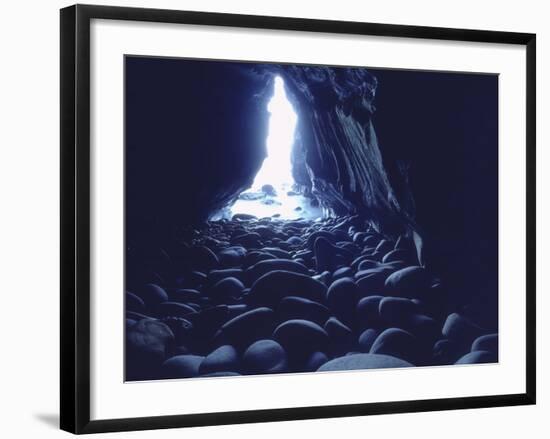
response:
{"label": "dark blue cave walls and ceiling surrounding the bright opening", "polygon": [[[173,266],[191,270],[186,259],[197,243],[220,249],[212,240],[223,239],[203,231],[233,221],[232,206],[266,160],[268,103],[281,78],[297,115],[292,192],[320,212],[294,237],[306,242],[318,223],[344,230],[351,245],[365,239],[355,239],[358,232],[393,243],[390,250],[407,251],[410,265],[434,274],[431,287],[445,297],[438,305],[443,321],[458,311],[498,331],[495,75],[148,57],[125,62],[129,291],[144,282],[175,282],[167,280]],[[284,241],[286,254],[296,250],[284,230],[294,230],[299,216],[258,218],[254,227],[283,227],[279,239],[269,235],[260,244]],[[234,218],[237,231],[228,244],[236,244],[238,231],[250,231],[247,221]],[[314,250],[305,244],[293,257],[315,267]]]}

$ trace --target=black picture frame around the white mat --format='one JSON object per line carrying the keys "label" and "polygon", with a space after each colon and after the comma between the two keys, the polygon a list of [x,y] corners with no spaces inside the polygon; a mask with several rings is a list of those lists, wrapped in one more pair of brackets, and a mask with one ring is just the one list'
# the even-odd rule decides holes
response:
{"label": "black picture frame around the white mat", "polygon": [[[526,47],[527,285],[526,392],[224,413],[90,420],[90,21],[134,20],[256,29],[488,42]],[[303,18],[75,5],[61,10],[61,404],[72,433],[191,427],[535,404],[536,36]]]}

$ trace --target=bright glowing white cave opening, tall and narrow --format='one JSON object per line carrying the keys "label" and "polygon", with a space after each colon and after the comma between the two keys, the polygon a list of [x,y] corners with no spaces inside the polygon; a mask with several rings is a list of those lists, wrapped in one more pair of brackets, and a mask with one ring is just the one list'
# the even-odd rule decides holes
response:
{"label": "bright glowing white cave opening, tall and narrow", "polygon": [[300,193],[292,175],[292,151],[298,115],[290,102],[281,76],[273,78],[273,95],[267,104],[269,129],[266,157],[250,188],[241,192],[230,207],[230,216],[315,220],[322,210],[311,198]]}

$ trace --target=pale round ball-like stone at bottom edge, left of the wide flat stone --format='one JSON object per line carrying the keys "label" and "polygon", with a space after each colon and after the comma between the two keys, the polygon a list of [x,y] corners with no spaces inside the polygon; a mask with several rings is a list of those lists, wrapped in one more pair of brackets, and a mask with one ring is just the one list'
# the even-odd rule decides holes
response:
{"label": "pale round ball-like stone at bottom edge, left of the wide flat stone", "polygon": [[274,340],[258,340],[250,345],[243,355],[244,373],[281,373],[287,370],[286,352]]}

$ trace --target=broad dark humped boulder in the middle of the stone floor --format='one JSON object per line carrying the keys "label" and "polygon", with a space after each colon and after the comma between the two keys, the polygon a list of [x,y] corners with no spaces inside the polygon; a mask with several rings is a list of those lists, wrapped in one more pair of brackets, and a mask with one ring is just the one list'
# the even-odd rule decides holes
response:
{"label": "broad dark humped boulder in the middle of the stone floor", "polygon": [[327,287],[308,275],[290,271],[271,271],[260,277],[250,289],[248,300],[256,305],[276,307],[283,297],[300,296],[323,302]]}

